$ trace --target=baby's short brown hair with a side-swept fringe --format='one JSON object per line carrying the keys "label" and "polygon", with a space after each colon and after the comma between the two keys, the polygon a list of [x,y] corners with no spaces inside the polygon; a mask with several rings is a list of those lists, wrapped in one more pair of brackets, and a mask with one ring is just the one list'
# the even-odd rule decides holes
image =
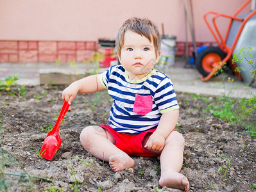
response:
{"label": "baby's short brown hair with a side-swept fringe", "polygon": [[158,52],[161,47],[161,37],[157,26],[151,22],[149,19],[139,19],[137,17],[130,18],[126,20],[123,26],[119,29],[117,36],[115,38],[115,50],[117,54],[121,55],[121,49],[124,44],[124,34],[126,31],[133,31],[139,35],[143,35],[148,38],[149,42],[152,42],[151,37],[153,38],[153,44],[155,46],[155,54],[158,56]]}

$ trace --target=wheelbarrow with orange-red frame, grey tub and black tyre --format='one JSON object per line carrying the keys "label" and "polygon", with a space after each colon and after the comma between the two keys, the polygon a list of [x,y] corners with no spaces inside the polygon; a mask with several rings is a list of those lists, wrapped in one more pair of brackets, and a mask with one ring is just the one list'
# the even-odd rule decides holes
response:
{"label": "wheelbarrow with orange-red frame, grey tub and black tyre", "polygon": [[[249,13],[239,14],[241,11],[251,3],[251,10]],[[213,14],[212,24],[215,31],[209,24],[207,16]],[[202,51],[198,52],[196,58],[196,68],[200,72],[201,79],[208,81],[219,68],[225,65],[225,63],[231,63],[232,55],[235,50],[241,49],[242,47],[254,47],[253,51],[256,51],[256,10],[255,0],[246,1],[233,16],[225,15],[216,12],[208,12],[205,14],[205,22],[210,29],[210,32],[216,39],[218,47],[207,47]],[[218,26],[216,25],[216,19],[219,17],[225,17],[230,19],[228,28],[226,30],[225,38],[221,36]],[[252,52],[253,54],[253,52]],[[256,57],[256,52],[253,54]],[[254,78],[250,76],[250,70],[252,66],[247,63],[236,63],[230,65],[234,70],[236,67],[243,67],[243,72],[235,72],[239,80],[243,80],[245,83],[252,84]],[[235,71],[235,70],[234,70]]]}

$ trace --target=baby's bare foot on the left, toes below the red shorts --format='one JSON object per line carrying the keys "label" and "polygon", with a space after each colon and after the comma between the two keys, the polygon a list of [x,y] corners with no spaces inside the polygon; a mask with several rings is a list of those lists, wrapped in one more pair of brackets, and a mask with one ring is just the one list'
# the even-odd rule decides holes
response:
{"label": "baby's bare foot on the left, toes below the red shorts", "polygon": [[114,172],[120,172],[134,165],[133,159],[128,155],[117,154],[109,157],[109,164]]}

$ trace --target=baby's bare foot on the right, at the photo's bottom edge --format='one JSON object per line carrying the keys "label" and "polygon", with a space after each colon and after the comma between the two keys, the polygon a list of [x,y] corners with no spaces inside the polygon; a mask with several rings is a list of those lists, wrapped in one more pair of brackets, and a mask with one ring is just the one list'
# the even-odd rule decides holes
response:
{"label": "baby's bare foot on the right, at the photo's bottom edge", "polygon": [[159,180],[161,187],[175,188],[183,191],[189,191],[189,180],[182,173],[168,173],[165,176],[161,176]]}

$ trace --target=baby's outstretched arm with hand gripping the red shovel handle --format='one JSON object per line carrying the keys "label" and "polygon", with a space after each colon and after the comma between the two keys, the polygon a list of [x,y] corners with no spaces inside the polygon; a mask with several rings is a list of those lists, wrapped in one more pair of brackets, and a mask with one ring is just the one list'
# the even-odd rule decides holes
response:
{"label": "baby's outstretched arm with hand gripping the red shovel handle", "polygon": [[100,78],[98,74],[74,81],[62,92],[62,100],[71,104],[77,93],[92,93],[104,90]]}

